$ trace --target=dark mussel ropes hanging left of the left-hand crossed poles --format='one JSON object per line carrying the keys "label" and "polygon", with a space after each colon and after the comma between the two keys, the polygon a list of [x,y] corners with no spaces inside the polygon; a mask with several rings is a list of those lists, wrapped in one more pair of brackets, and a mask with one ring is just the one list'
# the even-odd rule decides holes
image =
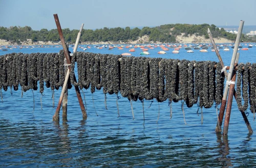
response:
{"label": "dark mussel ropes hanging left of the left-hand crossed poles", "polygon": [[[8,87],[22,92],[29,89],[44,92],[46,87],[59,89],[64,83],[64,54],[60,53],[12,53],[0,56],[0,89],[7,91]],[[2,97],[2,96],[1,96]]]}

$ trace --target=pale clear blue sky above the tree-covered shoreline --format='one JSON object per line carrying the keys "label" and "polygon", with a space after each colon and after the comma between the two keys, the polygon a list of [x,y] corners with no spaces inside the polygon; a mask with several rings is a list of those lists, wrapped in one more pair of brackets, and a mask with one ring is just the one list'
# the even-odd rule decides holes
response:
{"label": "pale clear blue sky above the tree-covered shoreline", "polygon": [[168,23],[256,25],[256,1],[156,1],[156,0],[0,0],[0,26],[55,29],[53,14],[61,28],[158,26]]}

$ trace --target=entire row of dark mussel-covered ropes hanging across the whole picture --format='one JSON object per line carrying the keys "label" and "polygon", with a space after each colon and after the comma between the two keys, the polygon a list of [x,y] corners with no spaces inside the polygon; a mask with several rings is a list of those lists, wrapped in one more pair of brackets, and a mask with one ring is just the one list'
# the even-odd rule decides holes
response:
{"label": "entire row of dark mussel-covered ropes hanging across the whole picture", "polygon": [[[64,53],[12,53],[0,56],[0,90],[8,87],[16,91],[37,90],[44,85],[54,93],[64,83]],[[77,62],[78,81],[74,79]],[[67,66],[67,65],[66,65]],[[242,68],[244,67],[244,68]],[[73,54],[68,88],[102,88],[105,94],[120,92],[130,101],[143,102],[156,99],[163,102],[182,101],[187,107],[198,104],[210,108],[219,105],[224,88],[221,65],[212,61],[188,61],[147,57],[76,52]],[[250,104],[256,106],[256,64],[239,64],[237,70],[237,97],[239,110],[245,111]],[[72,85],[71,85],[72,84]],[[242,93],[242,95],[241,95]],[[249,94],[248,94],[249,93]],[[242,98],[244,104],[242,105]],[[106,102],[105,102],[106,104]]]}

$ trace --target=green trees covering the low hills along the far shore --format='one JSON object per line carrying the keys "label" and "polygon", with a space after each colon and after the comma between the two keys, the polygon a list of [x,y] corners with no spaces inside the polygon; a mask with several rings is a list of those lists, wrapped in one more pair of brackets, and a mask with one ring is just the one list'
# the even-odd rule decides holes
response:
{"label": "green trees covering the low hills along the far shore", "polygon": [[[154,28],[144,27],[143,29],[123,28],[103,28],[103,29],[83,29],[80,38],[81,42],[107,42],[107,41],[135,41],[144,35],[149,36],[149,41],[152,42],[176,42],[176,36],[184,33],[183,36],[195,34],[196,36],[205,36],[209,38],[207,29],[210,28],[214,38],[224,37],[228,40],[235,41],[236,34],[226,32],[223,28],[219,29],[214,24],[165,24]],[[70,30],[69,28],[62,29],[66,42],[75,43],[79,30]],[[60,41],[57,29],[39,31],[32,30],[31,27],[0,27],[0,39],[18,43],[32,39],[37,41]],[[249,38],[242,34],[241,41],[253,42],[255,39]]]}

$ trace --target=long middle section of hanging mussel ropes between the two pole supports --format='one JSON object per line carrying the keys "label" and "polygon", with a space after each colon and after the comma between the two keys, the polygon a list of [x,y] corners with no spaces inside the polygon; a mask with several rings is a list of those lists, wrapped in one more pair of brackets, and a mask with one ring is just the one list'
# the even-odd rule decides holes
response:
{"label": "long middle section of hanging mussel ropes between the two pole supports", "polygon": [[[72,79],[77,62],[78,82]],[[217,68],[215,68],[217,64]],[[221,103],[224,77],[212,61],[188,61],[76,52],[71,63],[71,83],[81,89],[103,88],[129,100],[183,100],[187,107],[199,103],[210,108]]]}

